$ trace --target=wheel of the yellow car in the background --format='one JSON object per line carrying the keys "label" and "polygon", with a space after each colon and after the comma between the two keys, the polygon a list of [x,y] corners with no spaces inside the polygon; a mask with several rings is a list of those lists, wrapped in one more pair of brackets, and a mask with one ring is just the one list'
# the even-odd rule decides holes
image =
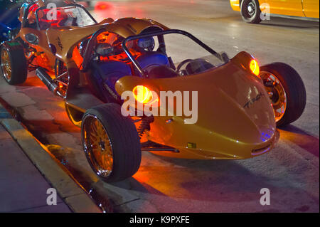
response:
{"label": "wheel of the yellow car in the background", "polygon": [[240,5],[240,14],[243,21],[247,23],[260,23],[260,5],[257,0],[242,0]]}

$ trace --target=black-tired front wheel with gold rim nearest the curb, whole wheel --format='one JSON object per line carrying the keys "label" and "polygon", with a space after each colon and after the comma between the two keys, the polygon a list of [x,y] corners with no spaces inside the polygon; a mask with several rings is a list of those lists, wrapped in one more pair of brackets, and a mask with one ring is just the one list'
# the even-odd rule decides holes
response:
{"label": "black-tired front wheel with gold rim nearest the curb, whole wheel", "polygon": [[82,117],[82,145],[92,170],[104,181],[122,181],[135,174],[141,163],[139,135],[120,105],[92,107]]}

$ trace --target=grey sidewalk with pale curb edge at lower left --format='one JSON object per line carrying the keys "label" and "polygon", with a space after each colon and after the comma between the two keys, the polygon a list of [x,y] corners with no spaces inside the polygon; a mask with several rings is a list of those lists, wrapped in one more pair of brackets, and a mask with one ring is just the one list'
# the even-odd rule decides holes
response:
{"label": "grey sidewalk with pale curb edge at lower left", "polygon": [[0,212],[101,213],[67,172],[0,104]]}

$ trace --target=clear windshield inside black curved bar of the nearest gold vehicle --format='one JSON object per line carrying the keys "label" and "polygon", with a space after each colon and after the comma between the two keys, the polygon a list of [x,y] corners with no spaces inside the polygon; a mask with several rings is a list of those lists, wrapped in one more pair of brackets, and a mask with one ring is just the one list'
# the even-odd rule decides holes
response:
{"label": "clear windshield inside black curved bar of the nearest gold vehicle", "polygon": [[146,33],[129,37],[124,42],[127,43],[127,41],[136,43],[139,56],[136,56],[137,51],[132,48],[124,48],[124,51],[138,70],[146,75],[154,73],[154,68],[159,65],[161,68],[166,65],[178,75],[195,75],[228,62],[227,58],[222,59],[219,53],[185,31]]}

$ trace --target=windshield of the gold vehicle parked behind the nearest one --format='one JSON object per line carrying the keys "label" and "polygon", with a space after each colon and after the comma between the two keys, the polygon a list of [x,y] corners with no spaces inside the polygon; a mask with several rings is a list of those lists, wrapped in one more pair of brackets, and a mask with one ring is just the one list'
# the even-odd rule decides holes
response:
{"label": "windshield of the gold vehicle parked behind the nearest one", "polygon": [[55,9],[38,9],[38,27],[40,30],[65,26],[84,27],[94,25],[95,19],[81,6],[65,6]]}

